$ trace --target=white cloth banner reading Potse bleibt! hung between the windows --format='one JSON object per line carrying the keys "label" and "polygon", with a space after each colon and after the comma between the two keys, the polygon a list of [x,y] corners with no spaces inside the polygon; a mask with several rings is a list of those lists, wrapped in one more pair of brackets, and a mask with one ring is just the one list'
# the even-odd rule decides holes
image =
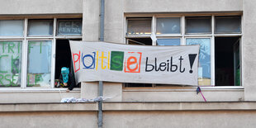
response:
{"label": "white cloth banner reading Potse bleibt! hung between the windows", "polygon": [[197,85],[199,45],[70,41],[70,47],[77,82]]}

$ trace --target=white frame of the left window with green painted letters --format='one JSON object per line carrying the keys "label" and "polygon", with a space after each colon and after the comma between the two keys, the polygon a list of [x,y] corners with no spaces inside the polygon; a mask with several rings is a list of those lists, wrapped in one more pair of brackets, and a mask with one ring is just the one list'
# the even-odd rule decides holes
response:
{"label": "white frame of the left window with green painted letters", "polygon": [[[53,19],[53,35],[49,36],[28,36],[28,20],[33,19],[41,19],[43,20],[50,20]],[[83,33],[81,33],[81,36],[78,35],[69,35],[69,36],[57,36],[57,19],[73,19],[78,20],[82,19],[82,17],[22,17],[22,18],[11,18],[11,20],[24,20],[23,25],[23,36],[0,36],[0,41],[21,41],[22,42],[22,56],[21,56],[21,87],[20,88],[0,88],[0,91],[57,91],[57,90],[65,90],[65,88],[55,88],[55,53],[56,53],[56,40],[59,39],[77,39],[82,40]],[[10,20],[9,18],[0,18],[0,20]],[[83,29],[82,29],[83,31]],[[51,76],[50,76],[50,87],[49,88],[41,88],[41,87],[26,87],[27,82],[27,59],[28,59],[28,42],[29,41],[45,41],[45,40],[51,40],[52,46],[51,46]],[[78,89],[80,90],[80,89]]]}

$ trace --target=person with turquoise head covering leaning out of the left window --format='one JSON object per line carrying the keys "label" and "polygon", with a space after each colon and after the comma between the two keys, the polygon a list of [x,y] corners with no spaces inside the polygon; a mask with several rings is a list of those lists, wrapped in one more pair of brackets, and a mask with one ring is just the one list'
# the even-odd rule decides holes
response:
{"label": "person with turquoise head covering leaning out of the left window", "polygon": [[75,82],[74,82],[72,73],[69,73],[69,68],[66,68],[66,67],[61,68],[61,73],[59,76],[59,83],[64,88],[68,88],[66,90],[66,92],[73,90],[73,88],[75,86]]}

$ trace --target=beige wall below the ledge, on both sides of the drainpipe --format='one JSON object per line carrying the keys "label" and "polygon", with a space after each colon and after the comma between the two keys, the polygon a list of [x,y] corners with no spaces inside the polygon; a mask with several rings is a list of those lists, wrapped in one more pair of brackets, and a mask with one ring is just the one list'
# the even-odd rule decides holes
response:
{"label": "beige wall below the ledge, on both sides of the drainpipe", "polygon": [[[105,111],[104,128],[254,128],[256,111]],[[97,128],[97,112],[1,112],[0,127]]]}

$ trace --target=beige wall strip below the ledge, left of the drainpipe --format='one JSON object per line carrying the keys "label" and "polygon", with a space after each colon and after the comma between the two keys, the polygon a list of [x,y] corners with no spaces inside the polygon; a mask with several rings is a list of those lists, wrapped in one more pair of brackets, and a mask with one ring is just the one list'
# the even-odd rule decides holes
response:
{"label": "beige wall strip below the ledge, left of the drainpipe", "polygon": [[96,111],[1,112],[0,127],[97,128]]}

